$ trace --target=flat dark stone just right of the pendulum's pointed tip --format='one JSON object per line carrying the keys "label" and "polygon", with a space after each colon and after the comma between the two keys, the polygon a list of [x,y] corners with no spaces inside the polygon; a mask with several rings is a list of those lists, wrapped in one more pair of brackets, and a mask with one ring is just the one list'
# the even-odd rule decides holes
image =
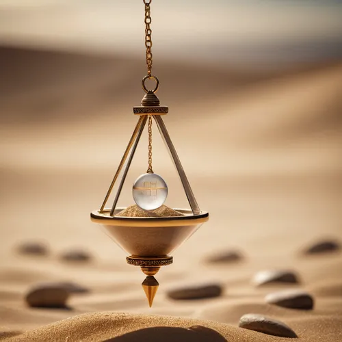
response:
{"label": "flat dark stone just right of the pendulum's pointed tip", "polygon": [[168,297],[174,300],[194,300],[200,298],[218,297],[222,293],[222,287],[218,284],[194,285],[180,287],[168,291]]}

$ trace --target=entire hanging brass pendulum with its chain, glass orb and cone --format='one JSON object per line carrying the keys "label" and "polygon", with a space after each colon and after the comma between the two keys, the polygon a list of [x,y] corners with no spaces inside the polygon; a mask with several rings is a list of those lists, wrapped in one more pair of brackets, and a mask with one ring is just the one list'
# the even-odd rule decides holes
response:
{"label": "entire hanging brass pendulum with its chain, glass orb and cone", "polygon": [[[198,207],[181,161],[161,118],[161,116],[168,114],[168,107],[160,105],[159,98],[155,94],[159,88],[159,80],[152,75],[152,30],[150,29],[150,3],[152,0],[143,1],[145,5],[147,75],[142,79],[142,88],[146,94],[142,98],[141,105],[133,107],[133,113],[139,117],[137,125],[124,151],[114,179],[111,181],[105,200],[100,209],[92,211],[91,219],[105,228],[107,234],[116,241],[116,244],[130,254],[126,258],[129,265],[139,266],[142,269],[146,275],[142,282],[142,288],[146,293],[149,306],[152,306],[153,298],[155,298],[159,287],[159,283],[154,277],[155,274],[161,266],[172,263],[173,259],[169,254],[194,234],[203,222],[209,220],[209,213],[201,211]],[[147,79],[155,81],[154,90],[146,88]],[[152,168],[153,120],[155,120],[158,131],[174,162],[191,209],[172,209],[164,205],[168,196],[168,186],[161,176],[153,172]],[[126,181],[146,122],[148,122],[148,169],[133,184],[132,194],[135,205],[117,207],[122,187]],[[109,196],[120,174],[121,180],[113,205],[111,208],[106,208]]]}

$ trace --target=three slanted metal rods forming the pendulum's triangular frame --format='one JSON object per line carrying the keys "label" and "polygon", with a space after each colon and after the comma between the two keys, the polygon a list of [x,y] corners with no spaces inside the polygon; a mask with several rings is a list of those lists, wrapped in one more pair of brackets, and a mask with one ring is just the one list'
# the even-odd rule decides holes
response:
{"label": "three slanted metal rods forming the pendulum's triangular frame", "polygon": [[[108,192],[105,196],[105,200],[103,201],[103,205],[101,206],[100,213],[103,213],[105,211],[105,205],[107,204],[107,201],[109,199],[109,196],[111,194],[111,191],[118,179],[118,176],[124,166],[124,163],[129,155],[129,159],[127,160],[127,164],[124,168],[124,172],[122,174],[122,179],[120,181],[118,192],[116,193],[116,197],[114,199],[114,203],[111,207],[110,215],[114,216],[114,212],[116,209],[116,205],[118,204],[118,199],[121,194],[122,187],[124,185],[124,181],[126,180],[127,173],[129,172],[129,167],[131,166],[131,161],[133,160],[135,150],[137,148],[137,144],[139,144],[140,137],[142,136],[142,132],[144,131],[144,127],[146,125],[148,115],[142,115],[140,116],[137,125],[135,126],[135,129],[133,131],[133,134],[131,136],[131,139],[129,140],[129,144],[127,145],[126,150],[124,151],[124,155],[122,156],[122,159],[120,161],[120,164],[118,166],[118,170],[116,170],[116,174],[114,175],[113,181],[111,181],[111,185],[109,186]],[[160,115],[153,115],[153,118],[155,119],[155,122],[157,123],[157,127],[159,129],[159,133],[161,137],[163,138],[163,142],[166,144],[166,148],[168,149],[168,152],[170,154],[170,157],[174,163],[174,166],[176,167],[176,170],[179,174],[179,178],[181,179],[185,195],[187,196],[187,200],[189,202],[189,205],[192,209],[192,213],[194,215],[198,215],[200,213],[200,208],[198,207],[198,203],[196,201],[196,198],[194,196],[194,193],[192,192],[192,188],[189,184],[189,181],[187,180],[187,176],[185,174],[185,171],[183,169],[183,166],[181,164],[181,161],[176,153],[176,149],[174,148],[174,145],[172,144],[172,140],[170,138],[170,135],[168,133],[168,130],[166,129],[166,126],[163,122],[163,119]],[[130,153],[131,152],[131,153]],[[129,154],[130,153],[130,154]]]}

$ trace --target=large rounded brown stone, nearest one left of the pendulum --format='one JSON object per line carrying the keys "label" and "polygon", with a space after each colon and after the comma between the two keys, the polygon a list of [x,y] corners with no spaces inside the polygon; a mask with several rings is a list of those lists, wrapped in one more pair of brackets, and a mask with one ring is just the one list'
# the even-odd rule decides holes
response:
{"label": "large rounded brown stone, nearest one left of the pendulum", "polygon": [[29,290],[25,300],[29,306],[38,308],[65,308],[69,291],[59,284],[36,285]]}

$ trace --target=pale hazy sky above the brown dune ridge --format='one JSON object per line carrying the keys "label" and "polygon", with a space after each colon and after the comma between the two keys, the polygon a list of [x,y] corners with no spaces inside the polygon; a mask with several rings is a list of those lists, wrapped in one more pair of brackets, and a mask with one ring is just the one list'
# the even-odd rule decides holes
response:
{"label": "pale hazy sky above the brown dune ridge", "polygon": [[[342,1],[153,0],[154,49],[202,59],[342,57]],[[0,0],[0,42],[141,53],[141,0]]]}

